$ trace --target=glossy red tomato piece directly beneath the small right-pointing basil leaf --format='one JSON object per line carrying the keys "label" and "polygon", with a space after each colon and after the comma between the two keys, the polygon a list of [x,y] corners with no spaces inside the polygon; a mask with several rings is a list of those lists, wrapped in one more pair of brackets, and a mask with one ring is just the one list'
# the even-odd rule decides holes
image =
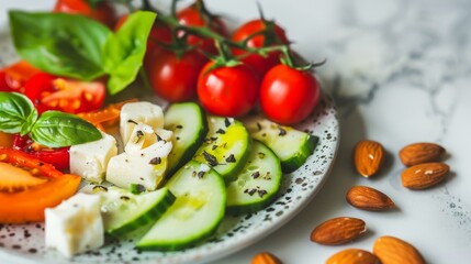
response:
{"label": "glossy red tomato piece directly beneath the small right-pointing basil leaf", "polygon": [[15,134],[13,136],[13,148],[25,152],[44,163],[49,163],[57,169],[69,167],[69,146],[58,148],[43,147],[34,143],[29,135],[21,136],[20,134]]}

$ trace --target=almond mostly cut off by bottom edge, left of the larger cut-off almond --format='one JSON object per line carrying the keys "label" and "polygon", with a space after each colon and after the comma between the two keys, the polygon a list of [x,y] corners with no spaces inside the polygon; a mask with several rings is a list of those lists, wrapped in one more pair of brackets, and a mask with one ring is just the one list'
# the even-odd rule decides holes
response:
{"label": "almond mostly cut off by bottom edge, left of the larger cut-off almond", "polygon": [[378,256],[358,249],[347,249],[332,255],[326,264],[380,264]]}

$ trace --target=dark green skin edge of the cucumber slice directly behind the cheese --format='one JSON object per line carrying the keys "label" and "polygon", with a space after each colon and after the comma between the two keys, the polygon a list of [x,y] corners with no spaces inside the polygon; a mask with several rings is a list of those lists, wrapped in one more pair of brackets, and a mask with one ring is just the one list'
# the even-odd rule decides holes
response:
{"label": "dark green skin edge of the cucumber slice directly behind the cheese", "polygon": [[[193,142],[193,144],[191,144],[187,151],[183,153],[183,155],[180,157],[180,161],[178,161],[177,163],[173,163],[175,165],[172,167],[169,167],[166,176],[165,176],[165,180],[168,180],[175,173],[177,173],[177,170],[182,167],[184,164],[187,164],[188,162],[191,161],[191,158],[194,156],[194,154],[197,153],[198,148],[200,148],[201,144],[204,141],[204,138],[208,134],[209,128],[208,128],[208,118],[206,118],[206,112],[203,110],[203,108],[194,102],[180,102],[178,105],[182,105],[182,103],[192,103],[195,107],[198,107],[200,109],[201,112],[201,122],[203,123],[203,127],[201,128],[201,130],[198,132],[198,141]],[[173,106],[173,105],[172,105]],[[171,107],[171,106],[170,106]]]}

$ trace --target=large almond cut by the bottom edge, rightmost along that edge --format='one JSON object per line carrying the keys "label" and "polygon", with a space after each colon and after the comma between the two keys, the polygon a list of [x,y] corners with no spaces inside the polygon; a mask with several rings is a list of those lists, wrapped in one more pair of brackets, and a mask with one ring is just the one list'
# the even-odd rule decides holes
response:
{"label": "large almond cut by the bottom edge, rightmost along that edge", "polygon": [[374,241],[373,254],[382,264],[424,264],[420,253],[410,243],[390,235]]}

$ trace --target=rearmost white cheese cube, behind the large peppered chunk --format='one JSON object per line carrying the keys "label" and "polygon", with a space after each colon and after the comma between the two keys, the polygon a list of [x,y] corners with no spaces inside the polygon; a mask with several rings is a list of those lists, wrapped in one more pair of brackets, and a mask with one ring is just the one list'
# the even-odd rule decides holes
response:
{"label": "rearmost white cheese cube, behind the large peppered chunk", "polygon": [[164,127],[164,111],[147,101],[128,102],[123,106],[120,113],[120,133],[124,145],[130,141],[134,127],[138,123],[150,125],[155,131]]}

